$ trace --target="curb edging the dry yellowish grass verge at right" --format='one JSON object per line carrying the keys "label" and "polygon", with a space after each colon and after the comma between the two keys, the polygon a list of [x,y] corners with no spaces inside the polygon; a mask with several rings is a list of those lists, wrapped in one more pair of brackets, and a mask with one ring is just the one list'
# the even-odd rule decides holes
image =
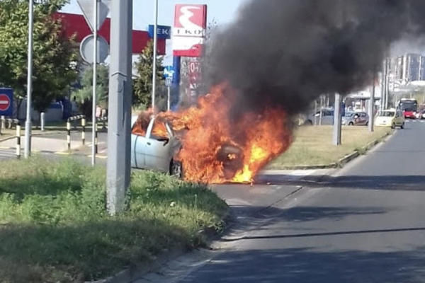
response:
{"label": "curb edging the dry yellowish grass verge at right", "polygon": [[353,153],[348,154],[344,156],[343,158],[339,159],[336,163],[329,163],[329,164],[319,164],[319,165],[299,165],[299,166],[286,166],[283,167],[281,170],[314,170],[314,169],[335,169],[335,168],[341,168],[346,165],[346,163],[353,161],[353,159],[358,158],[358,156],[361,156],[362,153],[369,151],[373,148],[373,146],[379,144],[382,142],[385,138],[390,136],[394,131],[388,132],[384,136],[380,137],[379,139],[375,139],[374,141],[371,141],[370,143],[366,144],[361,148],[361,150],[355,150]]}

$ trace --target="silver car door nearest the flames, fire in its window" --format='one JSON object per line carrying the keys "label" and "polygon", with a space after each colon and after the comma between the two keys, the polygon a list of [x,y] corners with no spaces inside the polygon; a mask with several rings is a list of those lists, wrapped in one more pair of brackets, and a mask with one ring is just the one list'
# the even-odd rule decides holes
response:
{"label": "silver car door nearest the flames, fire in its window", "polygon": [[[156,127],[165,129],[162,135],[155,134]],[[147,128],[145,141],[145,163],[146,168],[169,172],[173,151],[171,149],[171,136],[167,125],[152,119]]]}

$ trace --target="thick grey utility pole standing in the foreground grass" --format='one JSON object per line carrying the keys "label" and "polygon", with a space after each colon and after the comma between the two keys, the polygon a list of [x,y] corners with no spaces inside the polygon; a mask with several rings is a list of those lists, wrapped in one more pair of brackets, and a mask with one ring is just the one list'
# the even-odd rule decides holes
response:
{"label": "thick grey utility pole standing in the foreground grass", "polygon": [[111,64],[109,80],[107,208],[125,209],[130,186],[132,95],[132,0],[111,1]]}

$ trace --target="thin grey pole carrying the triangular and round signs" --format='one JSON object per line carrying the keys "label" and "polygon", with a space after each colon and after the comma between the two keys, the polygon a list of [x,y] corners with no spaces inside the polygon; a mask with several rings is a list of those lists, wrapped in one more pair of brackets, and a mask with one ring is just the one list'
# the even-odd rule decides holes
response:
{"label": "thin grey pole carrying the triangular and round signs", "polygon": [[97,86],[97,32],[98,32],[98,1],[94,1],[94,21],[93,21],[93,105],[91,109],[91,166],[96,163],[96,86]]}

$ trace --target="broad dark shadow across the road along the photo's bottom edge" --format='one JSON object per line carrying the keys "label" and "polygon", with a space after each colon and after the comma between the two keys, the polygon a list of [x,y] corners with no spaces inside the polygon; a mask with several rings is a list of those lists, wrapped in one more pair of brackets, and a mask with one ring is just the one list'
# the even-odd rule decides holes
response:
{"label": "broad dark shadow across the road along the photo's bottom edge", "polygon": [[223,253],[182,282],[423,282],[424,248],[408,252],[314,248]]}

